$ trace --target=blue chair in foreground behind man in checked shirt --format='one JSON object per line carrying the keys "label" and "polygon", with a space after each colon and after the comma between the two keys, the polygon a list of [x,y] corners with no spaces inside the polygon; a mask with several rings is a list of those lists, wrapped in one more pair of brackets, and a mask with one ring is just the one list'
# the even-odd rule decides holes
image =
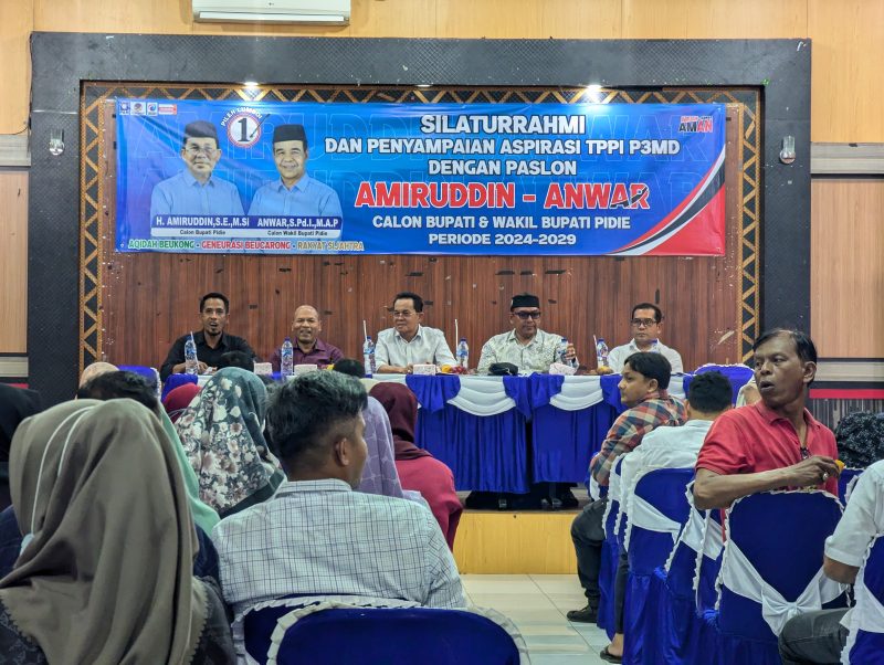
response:
{"label": "blue chair in foreground behind man in checked shirt", "polygon": [[462,610],[298,610],[278,622],[267,653],[280,665],[519,665],[502,625]]}

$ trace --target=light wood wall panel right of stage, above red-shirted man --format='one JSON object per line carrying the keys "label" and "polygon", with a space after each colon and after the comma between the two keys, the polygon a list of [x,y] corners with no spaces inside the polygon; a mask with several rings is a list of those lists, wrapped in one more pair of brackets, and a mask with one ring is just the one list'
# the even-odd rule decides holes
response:
{"label": "light wood wall panel right of stage, above red-shirted man", "polygon": [[884,358],[884,178],[817,179],[811,191],[817,348],[833,358]]}

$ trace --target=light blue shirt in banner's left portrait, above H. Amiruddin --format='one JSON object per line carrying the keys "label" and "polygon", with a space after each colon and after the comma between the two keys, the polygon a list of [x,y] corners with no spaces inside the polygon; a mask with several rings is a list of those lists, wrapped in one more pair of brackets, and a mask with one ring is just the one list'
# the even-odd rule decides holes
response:
{"label": "light blue shirt in banner's left portrait, above H. Amiruddin", "polygon": [[158,182],[150,194],[150,221],[158,214],[245,214],[236,186],[210,177],[206,184],[185,169]]}

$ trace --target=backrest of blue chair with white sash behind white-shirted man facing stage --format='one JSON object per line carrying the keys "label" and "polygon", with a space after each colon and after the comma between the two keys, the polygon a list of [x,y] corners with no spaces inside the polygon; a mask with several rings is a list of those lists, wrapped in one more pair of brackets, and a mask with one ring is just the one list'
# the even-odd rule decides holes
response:
{"label": "backrest of blue chair with white sash behind white-shirted man facing stage", "polygon": [[691,514],[685,488],[693,479],[693,468],[649,471],[640,475],[634,492],[623,497],[630,573],[650,576],[666,562]]}

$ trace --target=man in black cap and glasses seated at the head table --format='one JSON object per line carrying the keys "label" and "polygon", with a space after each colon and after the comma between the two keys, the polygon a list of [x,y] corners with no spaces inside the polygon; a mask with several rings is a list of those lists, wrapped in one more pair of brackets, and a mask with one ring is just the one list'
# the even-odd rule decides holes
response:
{"label": "man in black cap and glasses seated at the head table", "polygon": [[[476,372],[487,374],[495,362],[509,362],[524,372],[545,372],[558,361],[561,335],[546,332],[539,327],[540,298],[524,293],[513,296],[509,304],[509,332],[495,335],[482,347]],[[572,344],[568,345],[567,358],[576,358]]]}

